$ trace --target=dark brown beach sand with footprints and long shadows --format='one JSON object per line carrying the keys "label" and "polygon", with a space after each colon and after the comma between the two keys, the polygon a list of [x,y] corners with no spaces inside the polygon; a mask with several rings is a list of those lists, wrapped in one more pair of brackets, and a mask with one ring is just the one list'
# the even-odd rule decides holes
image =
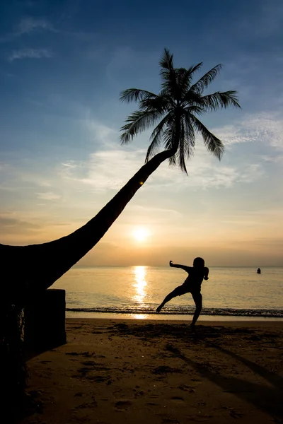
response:
{"label": "dark brown beach sand with footprints and long shadows", "polygon": [[283,423],[283,322],[67,319],[25,424]]}

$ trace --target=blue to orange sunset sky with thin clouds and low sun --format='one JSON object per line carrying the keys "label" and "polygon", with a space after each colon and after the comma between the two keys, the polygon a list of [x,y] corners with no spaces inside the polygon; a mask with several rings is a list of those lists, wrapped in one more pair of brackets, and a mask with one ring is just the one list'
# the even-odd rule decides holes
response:
{"label": "blue to orange sunset sky with thin clouds and low sun", "polygon": [[241,110],[206,114],[221,162],[197,136],[188,176],[163,163],[80,265],[283,266],[281,0],[2,0],[0,242],[76,230],[143,165],[150,131],[127,146],[137,105],[158,93],[163,49],[176,67],[223,69],[207,93],[237,90]]}

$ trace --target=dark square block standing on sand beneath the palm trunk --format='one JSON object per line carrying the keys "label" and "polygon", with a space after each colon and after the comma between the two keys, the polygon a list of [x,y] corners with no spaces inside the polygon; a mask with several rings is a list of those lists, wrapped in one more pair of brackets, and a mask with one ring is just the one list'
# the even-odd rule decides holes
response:
{"label": "dark square block standing on sand beneath the palm trunk", "polygon": [[45,290],[24,308],[25,353],[30,358],[66,343],[65,290]]}

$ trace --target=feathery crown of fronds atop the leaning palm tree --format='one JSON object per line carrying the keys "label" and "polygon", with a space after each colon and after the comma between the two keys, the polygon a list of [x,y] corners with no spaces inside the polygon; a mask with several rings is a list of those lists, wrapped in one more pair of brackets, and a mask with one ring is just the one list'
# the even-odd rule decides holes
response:
{"label": "feathery crown of fronds atop the leaning palm tree", "polygon": [[236,91],[217,91],[203,95],[205,88],[221,70],[221,64],[210,69],[196,83],[192,83],[192,76],[201,68],[202,62],[188,69],[174,68],[173,54],[164,49],[159,64],[162,79],[159,94],[128,88],[120,95],[122,102],[139,102],[139,110],[129,114],[126,124],[122,126],[122,144],[129,143],[139,132],[158,122],[151,134],[146,162],[157,153],[158,147],[163,143],[166,151],[172,151],[169,163],[178,164],[187,173],[185,160],[195,148],[195,132],[202,135],[207,150],[220,160],[224,153],[223,143],[197,117],[223,107],[241,107]]}

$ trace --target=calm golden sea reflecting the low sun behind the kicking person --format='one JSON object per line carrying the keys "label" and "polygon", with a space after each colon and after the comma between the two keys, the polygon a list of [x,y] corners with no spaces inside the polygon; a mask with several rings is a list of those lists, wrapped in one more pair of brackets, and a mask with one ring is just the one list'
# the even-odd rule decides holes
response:
{"label": "calm golden sea reflecting the low sun behind the kicking person", "polygon": [[[169,266],[74,266],[52,288],[66,290],[67,317],[190,320],[190,293],[156,313],[186,276]],[[202,296],[200,320],[283,320],[283,268],[211,267]]]}

